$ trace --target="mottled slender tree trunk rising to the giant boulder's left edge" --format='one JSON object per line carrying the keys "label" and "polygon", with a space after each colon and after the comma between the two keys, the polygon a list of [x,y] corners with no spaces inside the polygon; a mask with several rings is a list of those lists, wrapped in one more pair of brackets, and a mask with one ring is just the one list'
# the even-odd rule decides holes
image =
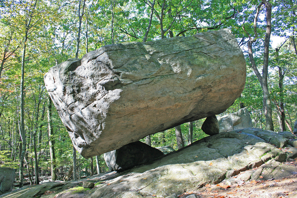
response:
{"label": "mottled slender tree trunk rising to the giant boulder's left edge", "polygon": [[52,181],[57,180],[57,169],[56,169],[56,155],[55,155],[55,140],[53,140],[53,127],[52,127],[52,100],[48,96],[48,146],[50,149],[50,172],[52,176]]}

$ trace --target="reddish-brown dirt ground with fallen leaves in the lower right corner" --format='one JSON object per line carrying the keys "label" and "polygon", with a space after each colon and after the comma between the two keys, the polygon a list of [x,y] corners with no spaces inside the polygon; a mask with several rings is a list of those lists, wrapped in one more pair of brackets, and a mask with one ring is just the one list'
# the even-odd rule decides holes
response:
{"label": "reddish-brown dirt ground with fallen leaves in the lower right corner", "polygon": [[[297,167],[297,160],[294,162],[284,162],[285,164]],[[236,176],[235,176],[236,177]],[[197,192],[188,192],[178,195],[185,198],[190,194],[196,194],[198,198],[297,198],[297,173],[282,179],[272,179],[268,181],[239,181],[234,185],[228,185],[226,182],[217,185],[206,185]],[[294,196],[293,196],[294,195]]]}

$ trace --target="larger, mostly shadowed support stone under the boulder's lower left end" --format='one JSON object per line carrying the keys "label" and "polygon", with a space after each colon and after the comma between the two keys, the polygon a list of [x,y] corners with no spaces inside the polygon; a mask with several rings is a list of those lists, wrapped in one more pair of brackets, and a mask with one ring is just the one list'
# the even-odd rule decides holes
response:
{"label": "larger, mostly shadowed support stone under the boulder's lower left end", "polygon": [[124,171],[163,155],[162,151],[137,141],[105,153],[104,160],[110,170]]}

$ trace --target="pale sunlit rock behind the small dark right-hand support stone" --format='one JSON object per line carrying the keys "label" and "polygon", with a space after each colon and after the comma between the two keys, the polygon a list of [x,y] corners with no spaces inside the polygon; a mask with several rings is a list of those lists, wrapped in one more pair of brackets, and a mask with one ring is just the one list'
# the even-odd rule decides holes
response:
{"label": "pale sunlit rock behind the small dark right-hand support stone", "polygon": [[233,131],[253,127],[251,116],[247,108],[218,118],[220,132]]}

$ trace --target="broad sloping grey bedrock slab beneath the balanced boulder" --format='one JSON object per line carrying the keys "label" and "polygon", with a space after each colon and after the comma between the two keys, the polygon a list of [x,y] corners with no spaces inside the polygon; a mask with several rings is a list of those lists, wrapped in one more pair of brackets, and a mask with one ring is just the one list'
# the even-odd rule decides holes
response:
{"label": "broad sloping grey bedrock slab beneath the balanced boulder", "polygon": [[[122,173],[114,171],[80,181],[26,186],[1,198],[161,198],[174,193],[197,192],[203,186],[222,181],[228,185],[234,183],[235,190],[235,186],[244,181],[278,180],[297,174],[296,166],[290,162],[282,163],[296,158],[297,148],[291,146],[287,138],[278,135],[257,128],[219,133],[164,155],[151,164],[139,165]],[[285,139],[279,140],[280,137]],[[272,145],[281,145],[284,140],[287,143],[283,147]],[[82,181],[95,183],[95,186],[91,190],[76,187],[82,186]],[[45,191],[53,193],[45,194]],[[284,188],[280,187],[279,191],[283,192]],[[295,187],[291,193],[296,192]]]}

